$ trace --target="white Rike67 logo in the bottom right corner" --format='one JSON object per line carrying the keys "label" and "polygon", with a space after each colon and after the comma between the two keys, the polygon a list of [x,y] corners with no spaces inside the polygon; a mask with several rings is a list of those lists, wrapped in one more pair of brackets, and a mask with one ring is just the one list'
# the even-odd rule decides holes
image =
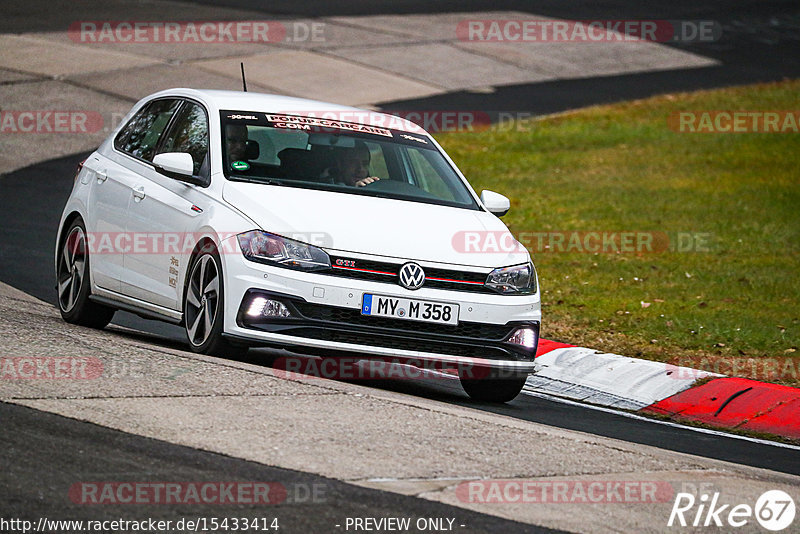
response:
{"label": "white Rike67 logo in the bottom right corner", "polygon": [[719,492],[703,493],[699,498],[692,493],[678,493],[667,526],[738,528],[755,519],[761,527],[778,532],[794,522],[794,499],[784,491],[764,492],[755,506],[720,504],[719,496]]}

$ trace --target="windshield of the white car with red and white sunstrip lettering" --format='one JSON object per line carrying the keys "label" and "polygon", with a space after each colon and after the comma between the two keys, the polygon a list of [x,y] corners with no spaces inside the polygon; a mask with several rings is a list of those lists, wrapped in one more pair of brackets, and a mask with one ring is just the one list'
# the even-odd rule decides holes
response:
{"label": "windshield of the white car with red and white sunstrip lettering", "polygon": [[229,180],[479,209],[425,135],[277,113],[220,119]]}

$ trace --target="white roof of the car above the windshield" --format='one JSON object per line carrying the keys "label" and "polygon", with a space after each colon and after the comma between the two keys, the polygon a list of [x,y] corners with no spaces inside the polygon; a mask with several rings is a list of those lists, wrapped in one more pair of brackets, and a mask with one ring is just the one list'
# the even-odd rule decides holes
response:
{"label": "white roof of the car above the windshield", "polygon": [[265,93],[243,91],[219,91],[213,89],[175,88],[154,93],[144,100],[161,98],[165,96],[182,96],[195,98],[205,102],[210,107],[219,110],[254,111],[261,113],[285,113],[300,116],[322,117],[326,119],[341,120],[393,128],[416,134],[426,133],[413,122],[402,117],[381,113],[352,106],[343,106],[319,100],[296,98],[285,95],[271,95]]}

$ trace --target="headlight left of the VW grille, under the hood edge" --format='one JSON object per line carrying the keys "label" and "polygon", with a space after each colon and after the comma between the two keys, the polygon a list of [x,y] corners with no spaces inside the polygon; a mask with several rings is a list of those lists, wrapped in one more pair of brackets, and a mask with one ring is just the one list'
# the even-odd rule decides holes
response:
{"label": "headlight left of the VW grille, under the hood edge", "polygon": [[300,241],[260,230],[239,234],[236,239],[248,260],[301,271],[320,271],[331,267],[331,259],[324,250]]}

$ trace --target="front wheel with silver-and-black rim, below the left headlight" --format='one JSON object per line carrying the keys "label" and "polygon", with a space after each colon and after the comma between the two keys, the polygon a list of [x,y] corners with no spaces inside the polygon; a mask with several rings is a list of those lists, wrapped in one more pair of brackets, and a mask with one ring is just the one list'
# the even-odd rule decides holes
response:
{"label": "front wheel with silver-and-black rim, below the left headlight", "polygon": [[183,299],[184,327],[193,352],[227,357],[247,352],[247,347],[231,345],[222,337],[224,310],[222,262],[215,247],[204,247],[189,266]]}

